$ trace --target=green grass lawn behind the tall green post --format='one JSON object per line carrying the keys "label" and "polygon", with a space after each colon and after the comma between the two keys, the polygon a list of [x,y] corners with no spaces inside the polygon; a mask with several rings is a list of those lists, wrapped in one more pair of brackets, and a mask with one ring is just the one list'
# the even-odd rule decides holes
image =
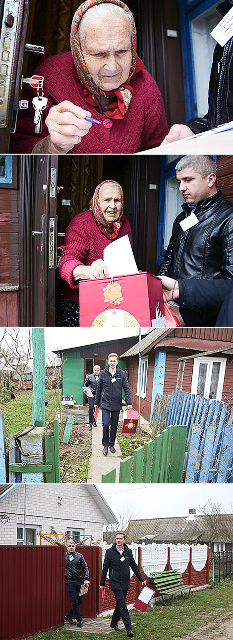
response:
{"label": "green grass lawn behind the tall green post", "polygon": [[[45,407],[45,424],[48,424],[57,413],[57,407],[52,392],[45,389],[45,400],[48,401]],[[10,446],[11,433],[21,433],[32,424],[33,419],[33,392],[15,394],[15,400],[9,400],[0,404],[0,410],[4,414],[4,425],[6,433],[6,446]]]}

